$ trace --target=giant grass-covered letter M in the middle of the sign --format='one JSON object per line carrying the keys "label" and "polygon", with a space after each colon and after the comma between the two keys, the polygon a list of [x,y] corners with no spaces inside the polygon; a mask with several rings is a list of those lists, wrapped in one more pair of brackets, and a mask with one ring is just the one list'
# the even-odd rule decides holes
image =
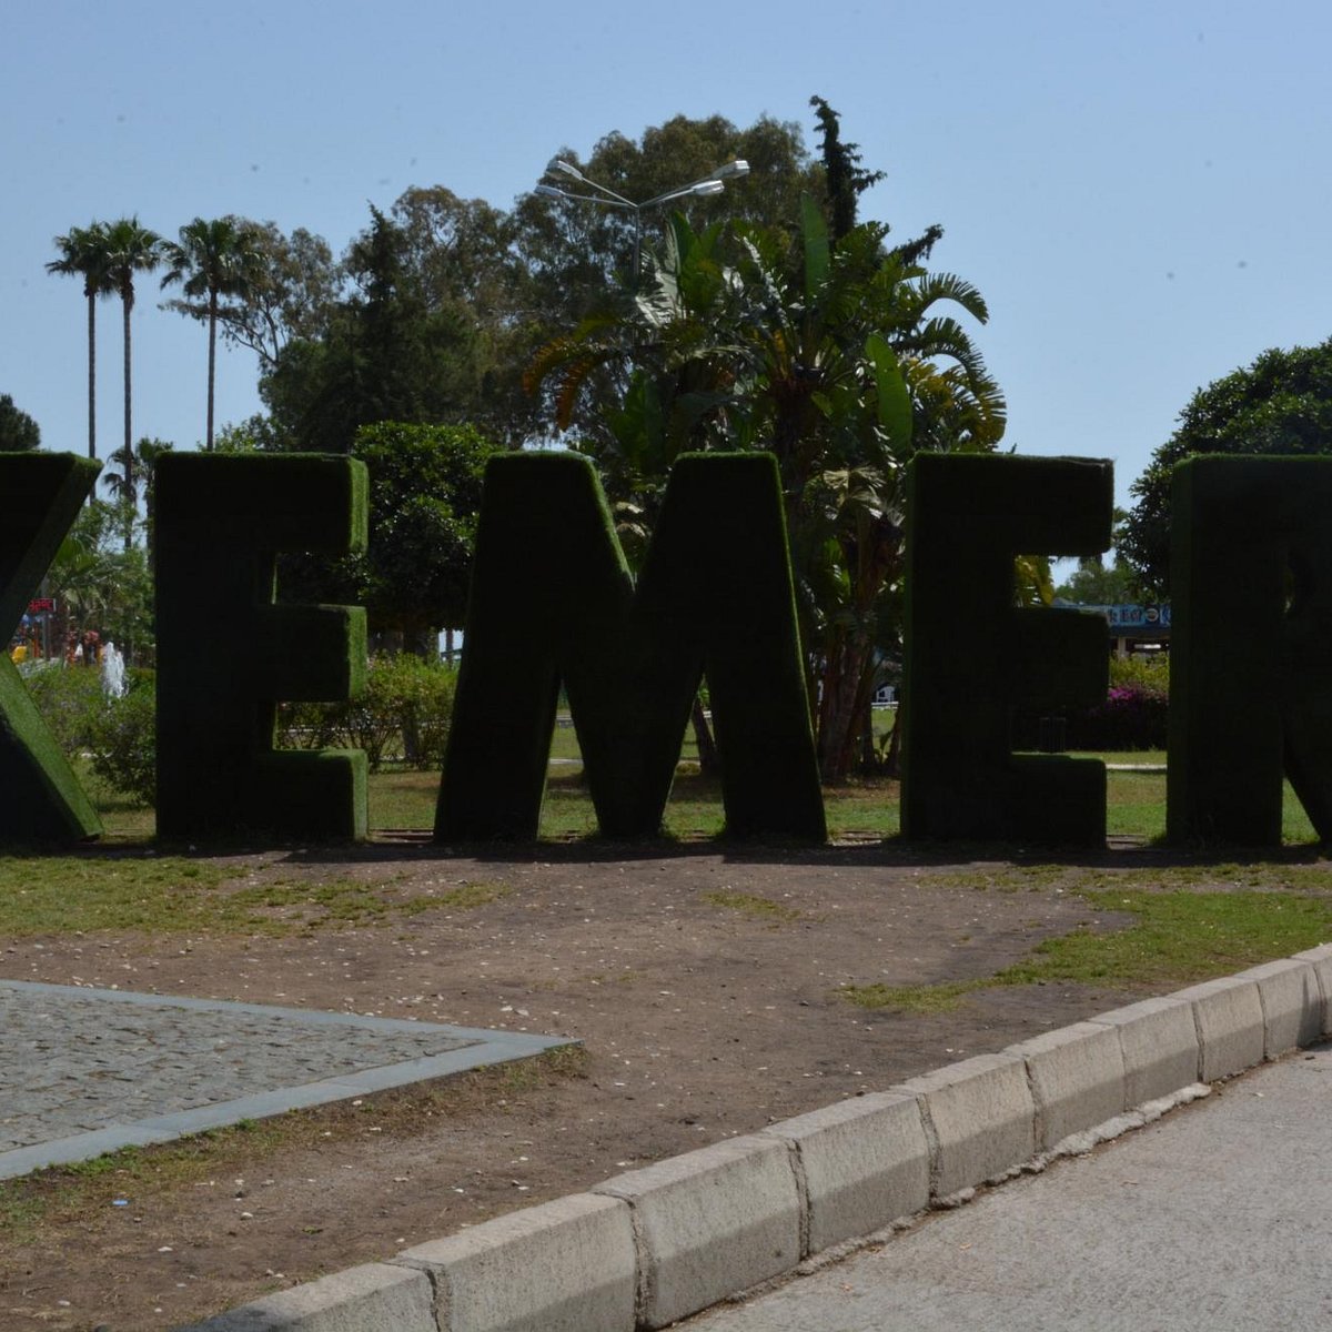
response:
{"label": "giant grass-covered letter M in the middle of the sign", "polygon": [[655,836],[705,673],[727,832],[822,842],[775,460],[682,457],[635,590],[586,458],[493,458],[437,839],[535,838],[561,681],[602,834]]}

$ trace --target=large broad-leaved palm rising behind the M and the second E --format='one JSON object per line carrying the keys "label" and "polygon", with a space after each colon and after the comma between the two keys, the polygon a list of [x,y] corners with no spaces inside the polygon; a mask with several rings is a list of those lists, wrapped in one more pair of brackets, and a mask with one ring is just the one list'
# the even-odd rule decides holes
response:
{"label": "large broad-leaved palm rising behind the M and the second E", "polygon": [[[582,445],[621,511],[651,527],[665,472],[683,449],[769,449],[786,497],[810,709],[825,778],[844,777],[880,662],[900,626],[906,465],[919,449],[992,449],[1004,406],[970,336],[968,282],[922,265],[938,238],[896,249],[864,222],[830,237],[806,201],[799,258],[774,230],[702,233],[671,220],[663,257],[529,372],[569,425],[606,376],[623,406]],[[727,241],[734,238],[734,245]]]}

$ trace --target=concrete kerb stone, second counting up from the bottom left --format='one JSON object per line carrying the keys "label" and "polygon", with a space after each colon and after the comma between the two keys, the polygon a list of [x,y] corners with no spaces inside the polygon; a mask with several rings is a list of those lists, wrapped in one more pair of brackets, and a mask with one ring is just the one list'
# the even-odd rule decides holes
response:
{"label": "concrete kerb stone, second counting up from the bottom left", "polygon": [[629,1205],[614,1197],[559,1197],[418,1244],[393,1261],[429,1273],[438,1332],[634,1328],[634,1228]]}

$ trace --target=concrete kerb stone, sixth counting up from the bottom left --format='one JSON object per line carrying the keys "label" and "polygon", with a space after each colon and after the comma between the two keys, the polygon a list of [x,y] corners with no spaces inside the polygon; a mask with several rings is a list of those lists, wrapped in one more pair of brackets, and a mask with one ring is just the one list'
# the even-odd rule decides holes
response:
{"label": "concrete kerb stone, sixth counting up from the bottom left", "polygon": [[1124,1054],[1112,1027],[1079,1022],[1010,1046],[1004,1054],[1027,1064],[1040,1151],[1127,1108]]}

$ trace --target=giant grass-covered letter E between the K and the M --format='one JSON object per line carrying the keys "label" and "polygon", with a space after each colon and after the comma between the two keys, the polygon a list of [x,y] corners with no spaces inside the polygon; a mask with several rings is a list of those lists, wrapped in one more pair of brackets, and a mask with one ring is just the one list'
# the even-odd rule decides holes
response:
{"label": "giant grass-covered letter E between the K and the M", "polygon": [[365,466],[296,454],[157,464],[157,832],[365,835],[360,750],[276,753],[280,699],[365,682],[365,611],[273,605],[280,550],[364,549]]}

